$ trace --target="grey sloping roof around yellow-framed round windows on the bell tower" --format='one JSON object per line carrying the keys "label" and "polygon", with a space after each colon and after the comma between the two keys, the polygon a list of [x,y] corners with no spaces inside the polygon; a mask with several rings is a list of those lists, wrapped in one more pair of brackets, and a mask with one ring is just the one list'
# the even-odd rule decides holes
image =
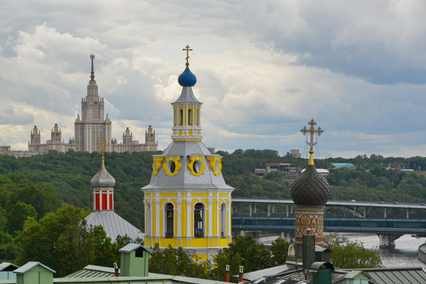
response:
{"label": "grey sloping roof around yellow-framed round windows on the bell tower", "polygon": [[[190,163],[190,155],[203,156],[203,162],[206,165],[204,174],[195,176],[191,174],[188,167]],[[227,189],[233,190],[234,188],[227,185],[223,179],[222,173],[219,176],[213,174],[210,168],[210,162],[207,156],[212,156],[210,151],[202,142],[197,141],[174,141],[172,142],[162,156],[180,156],[179,163],[182,164],[178,174],[168,176],[163,167],[160,167],[156,176],[151,176],[149,185],[144,186],[142,189]],[[215,156],[215,155],[213,155]]]}

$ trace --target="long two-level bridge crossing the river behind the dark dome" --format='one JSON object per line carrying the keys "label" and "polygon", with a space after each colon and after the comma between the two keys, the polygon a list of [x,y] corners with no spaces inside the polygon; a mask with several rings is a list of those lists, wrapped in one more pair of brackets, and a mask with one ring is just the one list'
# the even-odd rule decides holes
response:
{"label": "long two-level bridge crossing the river behind the dark dome", "polygon": [[[287,241],[292,241],[295,231],[293,200],[233,198],[232,229],[241,235],[247,232],[258,234],[260,231],[277,232]],[[238,212],[239,203],[249,203],[249,212]],[[257,203],[267,203],[268,212],[256,212]],[[275,204],[286,205],[286,212],[277,213]],[[370,214],[370,208],[379,207],[383,214]],[[405,214],[394,214],[392,209],[405,209]],[[412,214],[413,209],[425,209],[423,203],[391,203],[379,201],[330,200],[325,205],[325,232],[375,233],[379,236],[380,248],[395,247],[394,241],[410,234],[426,237],[425,214]],[[336,213],[336,210],[343,213]],[[339,212],[339,211],[338,211]]]}

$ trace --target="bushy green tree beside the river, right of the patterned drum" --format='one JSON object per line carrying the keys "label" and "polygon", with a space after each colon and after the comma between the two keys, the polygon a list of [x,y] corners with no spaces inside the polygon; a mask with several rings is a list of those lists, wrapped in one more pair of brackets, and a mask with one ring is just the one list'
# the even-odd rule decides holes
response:
{"label": "bushy green tree beside the river, right of the patterned drum", "polygon": [[380,256],[372,249],[366,249],[362,242],[339,243],[337,234],[326,235],[324,242],[333,251],[333,265],[343,269],[382,267]]}

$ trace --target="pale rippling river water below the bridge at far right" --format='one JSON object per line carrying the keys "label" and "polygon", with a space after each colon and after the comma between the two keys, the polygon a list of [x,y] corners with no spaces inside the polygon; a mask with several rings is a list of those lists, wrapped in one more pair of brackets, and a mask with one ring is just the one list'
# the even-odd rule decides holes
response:
{"label": "pale rippling river water below the bridge at far right", "polygon": [[418,255],[418,247],[426,241],[426,238],[416,239],[411,235],[403,235],[395,241],[394,249],[379,249],[379,237],[371,234],[348,234],[349,241],[360,241],[366,249],[375,249],[380,255],[384,267],[420,266],[426,268]]}

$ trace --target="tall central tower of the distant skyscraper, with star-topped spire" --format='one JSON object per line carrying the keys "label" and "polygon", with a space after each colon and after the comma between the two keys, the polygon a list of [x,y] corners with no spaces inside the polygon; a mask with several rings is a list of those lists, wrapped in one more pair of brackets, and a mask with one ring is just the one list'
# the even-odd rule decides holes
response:
{"label": "tall central tower of the distant skyscraper, with star-topped spire", "polygon": [[[98,95],[98,85],[95,81],[93,72],[93,59],[95,55],[90,55],[92,59],[92,72],[90,81],[87,85],[87,96],[81,99],[81,118],[77,115],[74,122],[75,129],[75,151],[89,153],[100,151],[98,142],[104,138],[106,141],[111,141],[111,120],[108,118],[108,113],[104,117],[104,98]],[[107,147],[105,151],[110,152],[111,148]]]}

